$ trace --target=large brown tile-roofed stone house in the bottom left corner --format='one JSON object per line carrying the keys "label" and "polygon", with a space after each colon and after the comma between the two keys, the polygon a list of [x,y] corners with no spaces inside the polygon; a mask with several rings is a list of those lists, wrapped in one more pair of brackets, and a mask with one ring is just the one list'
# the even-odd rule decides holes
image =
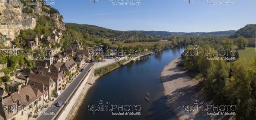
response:
{"label": "large brown tile-roofed stone house in the bottom left corner", "polygon": [[16,92],[1,98],[0,115],[4,120],[28,120],[41,107],[44,107],[44,93],[31,85],[24,85]]}

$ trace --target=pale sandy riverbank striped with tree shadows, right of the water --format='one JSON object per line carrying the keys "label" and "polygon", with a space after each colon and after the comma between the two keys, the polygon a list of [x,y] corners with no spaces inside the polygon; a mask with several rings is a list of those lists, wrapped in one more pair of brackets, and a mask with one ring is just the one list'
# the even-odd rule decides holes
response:
{"label": "pale sandy riverbank striped with tree shadows, right of the water", "polygon": [[[203,103],[209,104],[204,92],[200,89],[198,80],[186,75],[177,64],[181,61],[178,57],[163,68],[161,80],[163,81],[164,95],[166,96],[166,106],[171,109],[180,120],[219,120],[221,115],[207,115],[207,112],[198,110],[184,111],[184,105],[195,105]],[[197,102],[198,101],[198,102]]]}

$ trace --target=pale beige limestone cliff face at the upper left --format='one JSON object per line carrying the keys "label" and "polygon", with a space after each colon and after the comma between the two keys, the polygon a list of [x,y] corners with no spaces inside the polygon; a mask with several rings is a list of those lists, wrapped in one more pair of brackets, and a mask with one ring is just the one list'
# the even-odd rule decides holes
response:
{"label": "pale beige limestone cliff face at the upper left", "polygon": [[[60,20],[60,14],[47,14],[38,5],[33,13],[53,18],[59,29],[64,30],[65,24]],[[24,5],[20,0],[0,0],[0,33],[12,40],[20,34],[20,30],[34,29],[38,16],[35,14],[23,13]]]}

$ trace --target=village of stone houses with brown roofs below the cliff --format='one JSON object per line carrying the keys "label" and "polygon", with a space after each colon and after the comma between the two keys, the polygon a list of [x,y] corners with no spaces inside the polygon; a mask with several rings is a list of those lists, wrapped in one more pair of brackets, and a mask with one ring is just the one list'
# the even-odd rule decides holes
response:
{"label": "village of stone houses with brown roofs below the cliff", "polygon": [[[88,50],[83,49],[81,42],[74,40],[73,46],[67,50],[53,48],[52,45],[59,44],[61,36],[61,31],[54,29],[51,36],[38,37],[35,34],[27,37],[26,48],[47,48],[55,50],[57,54],[47,56],[51,57],[50,59],[36,60],[32,69],[25,67],[18,70],[20,72],[15,71],[15,75],[7,75],[9,81],[0,85],[1,120],[28,120],[38,117],[39,109],[49,107],[89,64]],[[12,47],[12,39],[8,36],[0,33],[0,40],[5,47]],[[7,64],[0,64],[0,70],[6,67]],[[3,76],[6,75],[0,72],[0,77]],[[6,109],[3,109],[2,107],[6,105]]]}

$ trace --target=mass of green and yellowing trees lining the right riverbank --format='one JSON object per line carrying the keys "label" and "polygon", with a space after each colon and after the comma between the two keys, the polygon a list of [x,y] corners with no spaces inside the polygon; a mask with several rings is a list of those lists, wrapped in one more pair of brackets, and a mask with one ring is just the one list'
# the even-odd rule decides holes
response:
{"label": "mass of green and yellowing trees lining the right riverbank", "polygon": [[[236,45],[241,45],[241,39],[247,41],[243,37],[233,40],[197,40],[193,45],[204,46],[206,50],[236,49]],[[193,77],[203,79],[202,89],[215,104],[236,105],[237,120],[252,120],[256,117],[256,53],[244,43],[237,49],[239,55],[236,61],[207,60],[207,57],[220,56],[200,54],[191,58],[183,56],[182,65],[188,73],[193,73]],[[187,46],[186,49],[194,47]]]}

